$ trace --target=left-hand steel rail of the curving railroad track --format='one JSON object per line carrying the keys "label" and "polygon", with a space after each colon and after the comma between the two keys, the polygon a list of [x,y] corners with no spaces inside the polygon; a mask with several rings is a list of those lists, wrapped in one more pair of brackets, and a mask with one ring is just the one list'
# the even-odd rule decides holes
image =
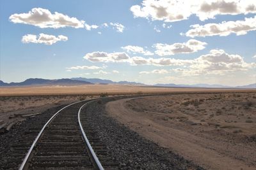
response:
{"label": "left-hand steel rail of the curving railroad track", "polygon": [[46,122],[46,124],[44,125],[44,127],[41,129],[41,131],[39,132],[39,134],[36,136],[36,139],[34,140],[33,144],[30,146],[28,153],[26,154],[26,157],[24,158],[24,160],[22,161],[22,164],[20,164],[19,170],[23,170],[24,167],[26,166],[26,164],[28,163],[28,159],[31,156],[31,152],[33,151],[33,149],[35,148],[36,143],[38,143],[38,139],[42,136],[42,133],[44,132],[45,128],[47,127],[47,125],[49,125],[51,123],[51,121],[53,120],[53,118],[56,117],[56,115],[58,115],[58,113],[60,113],[60,111],[64,110],[65,108],[72,106],[73,104],[77,104],[77,103],[81,103],[84,101],[94,101],[95,99],[89,99],[89,100],[83,100],[83,101],[77,101],[75,103],[71,103],[68,104],[67,106],[65,106],[64,108],[61,108],[61,110],[57,111],[49,120],[48,122]]}

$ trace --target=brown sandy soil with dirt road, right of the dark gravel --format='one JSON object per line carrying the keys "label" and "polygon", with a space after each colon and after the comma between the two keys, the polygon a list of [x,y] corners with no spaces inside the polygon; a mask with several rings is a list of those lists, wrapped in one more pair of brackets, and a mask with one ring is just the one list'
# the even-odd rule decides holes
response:
{"label": "brown sandy soil with dirt road, right of the dark gravel", "polygon": [[122,99],[111,117],[206,169],[256,169],[256,94]]}

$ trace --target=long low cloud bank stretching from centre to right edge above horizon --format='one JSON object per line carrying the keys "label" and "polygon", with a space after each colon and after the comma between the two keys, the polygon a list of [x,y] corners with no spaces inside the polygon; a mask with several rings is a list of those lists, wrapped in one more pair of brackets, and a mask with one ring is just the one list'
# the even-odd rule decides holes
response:
{"label": "long low cloud bank stretching from centre to right edge above horizon", "polygon": [[[173,71],[184,75],[221,74],[228,71],[246,71],[256,67],[254,62],[245,62],[240,55],[229,54],[224,50],[211,50],[208,54],[201,55],[196,59],[129,57],[126,53],[106,52],[87,53],[84,58],[92,62],[126,62],[132,66],[181,66]],[[164,71],[160,69],[155,70],[154,73],[164,73]],[[148,74],[148,72],[141,71],[141,74]]]}

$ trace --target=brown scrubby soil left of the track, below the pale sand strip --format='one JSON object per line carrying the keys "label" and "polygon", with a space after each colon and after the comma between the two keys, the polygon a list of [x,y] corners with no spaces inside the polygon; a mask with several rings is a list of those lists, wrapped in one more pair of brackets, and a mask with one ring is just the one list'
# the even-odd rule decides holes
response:
{"label": "brown scrubby soil left of the track, below the pale sand strip", "polygon": [[42,113],[54,106],[91,99],[92,97],[84,95],[0,97],[0,126],[24,120],[22,115]]}

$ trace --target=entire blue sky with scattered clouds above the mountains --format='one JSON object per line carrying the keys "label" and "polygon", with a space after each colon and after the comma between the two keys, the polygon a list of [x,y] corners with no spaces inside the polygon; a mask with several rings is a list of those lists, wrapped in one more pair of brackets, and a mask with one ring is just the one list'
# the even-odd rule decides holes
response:
{"label": "entire blue sky with scattered clouds above the mountains", "polygon": [[256,83],[256,1],[0,1],[0,80]]}

